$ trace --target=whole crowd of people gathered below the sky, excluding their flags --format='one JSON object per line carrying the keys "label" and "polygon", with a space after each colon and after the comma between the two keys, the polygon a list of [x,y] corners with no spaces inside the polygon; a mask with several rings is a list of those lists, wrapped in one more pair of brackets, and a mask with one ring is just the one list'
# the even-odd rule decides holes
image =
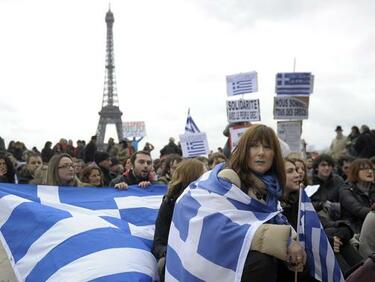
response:
{"label": "whole crowd of people gathered below the sky, excluding their flags", "polygon": [[[336,128],[330,150],[306,154],[282,151],[274,131],[251,125],[232,153],[218,148],[208,157],[187,159],[170,138],[152,160],[154,146],[140,140],[111,138],[98,150],[96,136],[73,146],[61,139],[47,141],[39,152],[22,142],[0,142],[0,182],[76,187],[129,185],[147,188],[153,183],[168,185],[156,221],[152,252],[164,279],[168,233],[177,198],[189,183],[204,172],[217,170],[217,177],[271,210],[283,208],[279,220],[262,224],[253,238],[242,273],[242,281],[315,281],[306,267],[306,252],[296,240],[300,187],[319,185],[311,202],[348,281],[370,281],[365,276],[375,267],[375,134],[368,126],[352,127],[344,136]],[[220,167],[219,167],[220,166]],[[183,210],[180,207],[179,210]],[[272,270],[272,271],[271,271]],[[362,276],[361,276],[362,275]]]}

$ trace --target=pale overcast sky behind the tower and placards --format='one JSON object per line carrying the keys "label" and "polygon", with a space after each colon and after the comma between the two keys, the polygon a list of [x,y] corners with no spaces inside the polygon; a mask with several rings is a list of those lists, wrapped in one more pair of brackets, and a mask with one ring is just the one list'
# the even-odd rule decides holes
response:
{"label": "pale overcast sky behind the tower and placards", "polygon": [[[0,136],[42,148],[89,140],[101,108],[108,1],[0,0]],[[157,151],[184,132],[187,110],[225,143],[225,76],[255,70],[261,122],[273,119],[275,74],[315,75],[302,137],[327,147],[334,129],[374,124],[373,0],[112,0],[123,121],[143,120]],[[109,129],[113,132],[113,128]],[[108,138],[107,136],[106,138]],[[142,142],[142,145],[144,142]]]}

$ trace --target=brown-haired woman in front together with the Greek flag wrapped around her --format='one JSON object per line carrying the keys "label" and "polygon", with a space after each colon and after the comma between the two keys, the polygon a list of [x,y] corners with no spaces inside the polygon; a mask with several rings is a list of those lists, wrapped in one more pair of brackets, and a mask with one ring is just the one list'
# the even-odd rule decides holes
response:
{"label": "brown-haired woman in front together with the Greek flag wrapped around her", "polygon": [[272,128],[256,124],[217,165],[178,198],[166,281],[277,281],[278,264],[302,271],[306,253],[280,213],[285,185]]}

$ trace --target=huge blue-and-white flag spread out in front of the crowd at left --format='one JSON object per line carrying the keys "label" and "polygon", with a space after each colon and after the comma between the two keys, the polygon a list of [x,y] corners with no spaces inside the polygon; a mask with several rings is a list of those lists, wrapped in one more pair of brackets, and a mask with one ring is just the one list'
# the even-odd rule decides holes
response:
{"label": "huge blue-and-white flag spread out in front of the crowd at left", "polygon": [[0,239],[19,281],[156,281],[166,192],[0,184]]}

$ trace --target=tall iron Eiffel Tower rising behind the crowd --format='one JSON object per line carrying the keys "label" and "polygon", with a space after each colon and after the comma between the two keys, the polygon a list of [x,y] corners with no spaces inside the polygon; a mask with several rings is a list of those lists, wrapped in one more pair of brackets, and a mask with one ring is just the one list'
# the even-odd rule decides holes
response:
{"label": "tall iron Eiffel Tower rising behind the crowd", "polygon": [[104,136],[108,124],[115,124],[118,140],[123,139],[122,135],[122,112],[119,108],[116,76],[115,76],[115,61],[113,52],[113,23],[115,18],[109,8],[105,15],[105,22],[107,23],[107,45],[106,45],[106,60],[105,60],[105,78],[104,78],[104,92],[102,109],[99,112],[99,124],[96,131],[97,146],[103,150],[105,147]]}

